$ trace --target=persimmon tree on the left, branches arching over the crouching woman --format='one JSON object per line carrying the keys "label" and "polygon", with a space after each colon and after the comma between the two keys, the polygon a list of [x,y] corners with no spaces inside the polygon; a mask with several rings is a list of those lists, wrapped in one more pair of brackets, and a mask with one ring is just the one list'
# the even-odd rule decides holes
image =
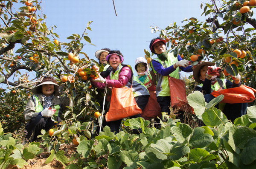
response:
{"label": "persimmon tree on the left, branches arching over the crouching woman", "polygon": [[[42,77],[54,76],[61,92],[74,103],[74,107],[65,112],[65,119],[87,121],[100,108],[94,99],[97,92],[89,80],[96,75],[92,64],[97,63],[82,51],[85,43],[91,44],[87,31],[91,31],[92,21],[81,35],[72,34],[67,42],[59,42],[55,27],[47,26],[47,16],[41,14],[40,5],[38,0],[1,1],[0,83],[5,86],[1,97],[12,100],[12,103],[4,102],[7,107],[0,113],[1,117],[7,120],[8,114],[23,119],[26,101],[32,95],[30,89]],[[69,60],[69,54],[73,54],[73,59]],[[85,72],[83,79],[79,76],[81,70]],[[67,82],[61,82],[62,76],[67,76]]]}

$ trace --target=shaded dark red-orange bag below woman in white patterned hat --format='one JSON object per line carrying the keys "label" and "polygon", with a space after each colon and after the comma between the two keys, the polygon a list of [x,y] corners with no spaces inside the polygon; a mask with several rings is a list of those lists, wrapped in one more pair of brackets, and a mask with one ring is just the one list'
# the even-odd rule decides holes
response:
{"label": "shaded dark red-orange bag below woman in white patterned hat", "polygon": [[157,102],[157,95],[155,90],[148,90],[150,97],[148,99],[148,104],[143,109],[142,117],[145,119],[161,117],[161,107]]}

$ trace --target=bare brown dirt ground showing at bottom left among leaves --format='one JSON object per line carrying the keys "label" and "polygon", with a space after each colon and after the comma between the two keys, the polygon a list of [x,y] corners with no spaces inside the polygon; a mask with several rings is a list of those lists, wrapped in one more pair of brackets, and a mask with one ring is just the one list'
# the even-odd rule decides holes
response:
{"label": "bare brown dirt ground showing at bottom left among leaves", "polygon": [[[67,158],[70,158],[73,152],[76,151],[76,146],[73,144],[63,144],[60,147],[60,150],[64,150]],[[49,153],[43,152],[38,157],[34,159],[29,159],[28,165],[24,166],[22,169],[64,169],[65,167],[61,162],[53,160],[51,163],[45,164],[44,162],[49,157]],[[18,169],[17,166],[9,165],[6,169]]]}

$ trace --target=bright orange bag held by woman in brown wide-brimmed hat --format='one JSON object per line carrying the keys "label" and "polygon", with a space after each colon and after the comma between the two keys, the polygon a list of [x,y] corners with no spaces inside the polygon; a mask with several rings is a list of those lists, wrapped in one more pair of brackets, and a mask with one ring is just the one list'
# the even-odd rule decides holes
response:
{"label": "bright orange bag held by woman in brown wide-brimmed hat", "polygon": [[249,103],[255,100],[256,90],[252,87],[241,85],[229,89],[214,90],[211,94],[215,97],[221,94],[224,95],[224,99],[221,101],[223,103]]}

